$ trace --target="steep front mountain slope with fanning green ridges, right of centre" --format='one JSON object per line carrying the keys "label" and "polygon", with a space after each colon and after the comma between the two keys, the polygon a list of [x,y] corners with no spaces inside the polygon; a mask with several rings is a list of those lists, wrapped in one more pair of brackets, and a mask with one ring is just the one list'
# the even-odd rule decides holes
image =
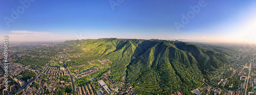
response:
{"label": "steep front mountain slope with fanning green ridges, right of centre", "polygon": [[[138,92],[142,90],[155,94],[171,94],[179,90],[188,92],[200,86],[204,79],[193,55],[177,49],[169,42],[158,42],[127,68],[128,80],[139,82],[136,86]],[[156,85],[152,84],[158,84],[157,91],[152,90],[156,88]]]}

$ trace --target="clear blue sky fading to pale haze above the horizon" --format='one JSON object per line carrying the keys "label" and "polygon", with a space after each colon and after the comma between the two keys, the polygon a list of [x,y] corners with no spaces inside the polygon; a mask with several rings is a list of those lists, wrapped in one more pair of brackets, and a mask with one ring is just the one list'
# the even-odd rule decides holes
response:
{"label": "clear blue sky fading to pale haze above the horizon", "polygon": [[8,0],[0,1],[0,36],[10,41],[114,37],[255,43],[255,10],[256,1]]}

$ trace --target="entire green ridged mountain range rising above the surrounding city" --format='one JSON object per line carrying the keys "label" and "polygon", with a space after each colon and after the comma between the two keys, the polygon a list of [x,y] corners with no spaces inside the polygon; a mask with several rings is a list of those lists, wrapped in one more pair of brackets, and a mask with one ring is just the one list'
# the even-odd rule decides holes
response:
{"label": "entire green ridged mountain range rising above the surrounding city", "polygon": [[[229,64],[229,56],[182,41],[143,39],[87,39],[63,42],[83,60],[110,59],[116,80],[125,77],[138,94],[173,94],[200,87],[206,70]],[[69,64],[67,64],[69,65]]]}

